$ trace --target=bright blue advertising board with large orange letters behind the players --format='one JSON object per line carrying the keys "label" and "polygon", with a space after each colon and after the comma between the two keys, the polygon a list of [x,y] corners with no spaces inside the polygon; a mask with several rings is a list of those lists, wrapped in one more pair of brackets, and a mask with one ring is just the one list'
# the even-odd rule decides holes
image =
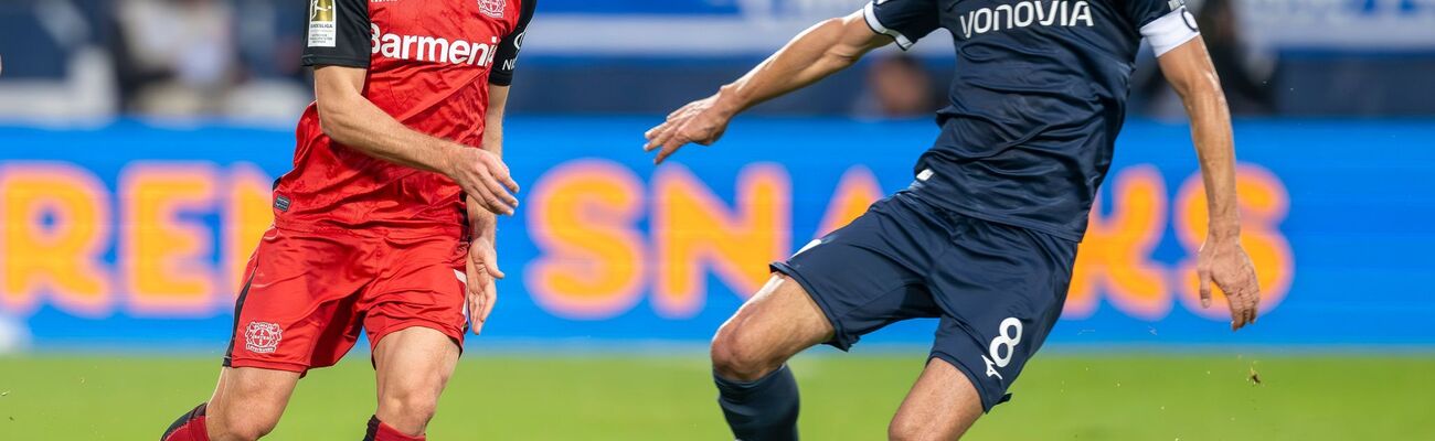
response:
{"label": "bright blue advertising board with large orange letters behind the players", "polygon": [[[927,120],[740,119],[659,168],[654,117],[512,117],[524,186],[485,335],[702,342],[766,262],[911,180]],[[1195,302],[1204,199],[1188,127],[1126,125],[1055,345],[1435,345],[1435,123],[1238,122],[1244,241],[1266,294],[1231,334]],[[32,348],[218,348],[268,226],[284,129],[0,127],[0,321]],[[343,265],[344,262],[334,262]],[[875,341],[923,344],[931,322]],[[871,339],[864,339],[871,341]]]}

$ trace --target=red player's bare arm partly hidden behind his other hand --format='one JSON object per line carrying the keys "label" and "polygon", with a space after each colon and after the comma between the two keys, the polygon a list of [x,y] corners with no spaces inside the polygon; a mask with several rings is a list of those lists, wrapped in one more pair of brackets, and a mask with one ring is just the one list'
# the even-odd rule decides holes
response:
{"label": "red player's bare arm partly hidden behind his other hand", "polygon": [[[508,87],[488,86],[488,113],[484,115],[484,150],[497,158],[504,156],[504,109],[508,105]],[[498,269],[498,219],[475,200],[468,202],[469,236],[468,262],[468,311],[472,316],[474,334],[484,331],[488,315],[498,302],[498,286],[494,279],[502,279]]]}

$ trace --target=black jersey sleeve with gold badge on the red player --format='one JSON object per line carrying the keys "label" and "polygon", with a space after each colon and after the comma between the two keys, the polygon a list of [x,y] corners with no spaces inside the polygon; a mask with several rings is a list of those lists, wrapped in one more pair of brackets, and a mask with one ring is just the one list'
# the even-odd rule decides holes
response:
{"label": "black jersey sleeve with gold badge on the red player", "polygon": [[367,0],[309,0],[304,66],[369,67]]}

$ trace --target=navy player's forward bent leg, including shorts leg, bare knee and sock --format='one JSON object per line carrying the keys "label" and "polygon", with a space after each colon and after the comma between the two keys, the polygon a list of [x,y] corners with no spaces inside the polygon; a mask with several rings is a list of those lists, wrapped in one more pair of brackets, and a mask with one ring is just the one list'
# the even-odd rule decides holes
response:
{"label": "navy player's forward bent leg, including shorts leg, bare knee and sock", "polygon": [[845,351],[888,324],[941,312],[926,273],[947,248],[944,219],[898,193],[772,263],[779,275],[713,339],[719,402],[738,438],[796,438],[796,382],[784,368],[794,354],[822,342]]}

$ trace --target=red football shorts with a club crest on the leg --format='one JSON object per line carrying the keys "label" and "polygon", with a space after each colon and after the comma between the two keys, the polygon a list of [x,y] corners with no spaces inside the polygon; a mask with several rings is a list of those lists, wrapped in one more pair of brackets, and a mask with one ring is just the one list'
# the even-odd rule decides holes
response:
{"label": "red football shorts with a club crest on the leg", "polygon": [[449,235],[359,235],[270,228],[234,304],[225,367],[306,372],[331,367],[359,329],[370,346],[409,326],[462,346],[464,259]]}

